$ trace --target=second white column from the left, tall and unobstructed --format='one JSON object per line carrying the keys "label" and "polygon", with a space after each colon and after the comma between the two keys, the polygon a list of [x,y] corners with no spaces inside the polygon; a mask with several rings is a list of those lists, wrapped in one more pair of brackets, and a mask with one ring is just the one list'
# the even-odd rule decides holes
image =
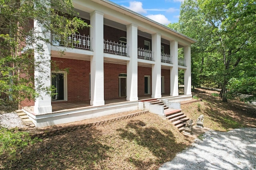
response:
{"label": "second white column from the left, tall and unobstructed", "polygon": [[90,35],[92,37],[91,57],[91,101],[92,106],[102,106],[104,101],[104,57],[103,57],[103,13],[94,11],[90,14]]}

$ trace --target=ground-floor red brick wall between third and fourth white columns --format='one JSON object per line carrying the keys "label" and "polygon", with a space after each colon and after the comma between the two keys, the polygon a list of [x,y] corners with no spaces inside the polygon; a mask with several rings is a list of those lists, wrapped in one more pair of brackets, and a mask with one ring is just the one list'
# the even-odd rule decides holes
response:
{"label": "ground-floor red brick wall between third and fourth white columns", "polygon": [[144,96],[144,76],[150,76],[150,94],[152,94],[152,68],[138,66],[138,96]]}

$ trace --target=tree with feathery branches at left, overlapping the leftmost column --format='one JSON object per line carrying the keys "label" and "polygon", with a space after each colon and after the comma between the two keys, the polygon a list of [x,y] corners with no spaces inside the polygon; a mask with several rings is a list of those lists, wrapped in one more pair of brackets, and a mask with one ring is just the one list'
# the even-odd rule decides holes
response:
{"label": "tree with feathery branches at left, overlapping the leftmost column", "polygon": [[[43,71],[43,44],[52,43],[44,35],[50,32],[67,37],[88,26],[76,16],[72,0],[0,1],[1,110],[17,106],[25,98],[34,100],[42,91],[50,94],[51,87],[45,88],[42,80],[34,80],[34,70]],[[44,29],[35,29],[34,21]],[[40,62],[34,60],[35,51],[42,58]]]}

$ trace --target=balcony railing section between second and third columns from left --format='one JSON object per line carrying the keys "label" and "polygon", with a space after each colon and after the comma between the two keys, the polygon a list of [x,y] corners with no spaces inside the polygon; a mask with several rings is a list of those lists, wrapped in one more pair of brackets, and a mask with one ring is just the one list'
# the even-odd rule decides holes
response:
{"label": "balcony railing section between second and third columns from left", "polygon": [[127,55],[128,49],[127,49],[126,45],[124,45],[122,43],[115,43],[115,42],[113,43],[111,41],[104,40],[103,50],[106,53],[128,56]]}

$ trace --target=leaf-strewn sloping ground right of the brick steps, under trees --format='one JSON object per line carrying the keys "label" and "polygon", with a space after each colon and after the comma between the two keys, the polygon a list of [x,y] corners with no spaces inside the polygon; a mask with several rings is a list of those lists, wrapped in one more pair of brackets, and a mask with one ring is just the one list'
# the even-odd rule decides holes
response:
{"label": "leaf-strewn sloping ground right of the brick steps, under trees", "polygon": [[213,96],[213,93],[216,92],[196,89],[193,95],[202,98],[202,102],[182,105],[182,111],[194,121],[203,114],[204,127],[217,131],[228,131],[239,127],[256,128],[256,106],[239,100],[222,102],[221,98]]}

